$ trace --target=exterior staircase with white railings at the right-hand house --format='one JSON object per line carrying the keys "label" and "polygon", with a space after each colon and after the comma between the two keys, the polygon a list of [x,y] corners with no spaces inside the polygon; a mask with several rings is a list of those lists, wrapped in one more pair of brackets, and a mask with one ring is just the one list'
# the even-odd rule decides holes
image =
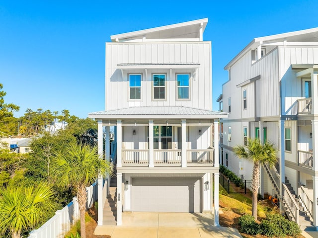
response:
{"label": "exterior staircase with white railings at the right-hand house", "polygon": [[[275,194],[277,197],[280,197],[280,190],[279,190],[279,180],[280,175],[277,170],[279,170],[279,167],[277,169],[276,167],[269,168],[268,166],[264,166],[264,169],[269,176],[274,189]],[[308,208],[306,208],[305,204],[303,203],[302,199],[300,199],[294,190],[294,188],[291,186],[291,183],[285,176],[285,183],[283,183],[283,201],[282,202],[282,208],[284,212],[286,213],[289,220],[297,222],[302,230],[313,230],[316,231],[316,227],[314,227],[313,218],[310,215],[310,212],[308,211]],[[298,221],[297,221],[298,220]]]}

